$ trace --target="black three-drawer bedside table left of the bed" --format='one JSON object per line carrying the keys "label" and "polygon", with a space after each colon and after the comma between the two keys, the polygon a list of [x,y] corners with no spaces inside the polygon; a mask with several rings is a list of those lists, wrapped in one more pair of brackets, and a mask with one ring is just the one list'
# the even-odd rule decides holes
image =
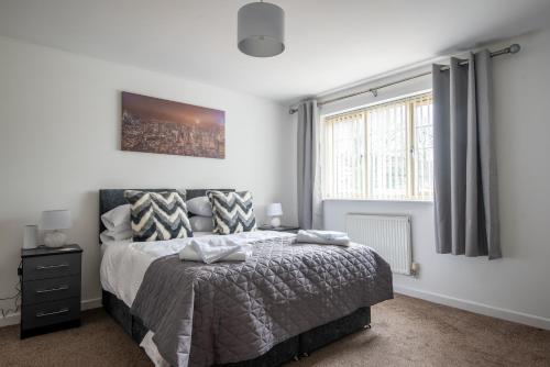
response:
{"label": "black three-drawer bedside table left of the bed", "polygon": [[21,249],[21,338],[80,325],[78,245]]}

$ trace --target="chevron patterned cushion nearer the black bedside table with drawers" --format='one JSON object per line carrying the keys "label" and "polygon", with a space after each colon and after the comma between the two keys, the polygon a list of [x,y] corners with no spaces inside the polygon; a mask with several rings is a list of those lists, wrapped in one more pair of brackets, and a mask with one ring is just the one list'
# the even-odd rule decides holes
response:
{"label": "chevron patterned cushion nearer the black bedside table with drawers", "polygon": [[193,237],[185,191],[125,190],[131,207],[134,242]]}

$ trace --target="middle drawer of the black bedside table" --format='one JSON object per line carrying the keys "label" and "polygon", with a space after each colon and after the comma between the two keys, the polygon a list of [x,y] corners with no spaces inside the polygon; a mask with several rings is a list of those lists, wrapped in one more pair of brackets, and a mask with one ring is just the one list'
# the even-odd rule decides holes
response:
{"label": "middle drawer of the black bedside table", "polygon": [[23,305],[80,297],[80,275],[25,281]]}

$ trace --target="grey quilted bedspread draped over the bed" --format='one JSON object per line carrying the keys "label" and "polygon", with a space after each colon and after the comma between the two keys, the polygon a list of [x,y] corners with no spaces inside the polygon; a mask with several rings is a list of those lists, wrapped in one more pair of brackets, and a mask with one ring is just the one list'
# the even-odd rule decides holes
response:
{"label": "grey quilted bedspread draped over the bed", "polygon": [[389,265],[370,247],[293,241],[260,241],[245,263],[162,257],[148,267],[131,311],[172,366],[210,366],[255,358],[393,298]]}

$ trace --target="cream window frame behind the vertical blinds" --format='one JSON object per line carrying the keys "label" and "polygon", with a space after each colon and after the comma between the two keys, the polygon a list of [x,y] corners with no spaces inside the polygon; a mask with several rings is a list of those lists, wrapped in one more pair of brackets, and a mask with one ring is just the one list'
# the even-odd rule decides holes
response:
{"label": "cream window frame behind the vertical blinds", "polygon": [[[354,108],[349,108],[345,110],[341,111],[336,111],[332,113],[327,113],[321,115],[320,123],[321,123],[321,133],[320,133],[320,167],[321,167],[321,198],[322,200],[339,200],[339,201],[374,201],[374,202],[420,202],[420,203],[432,203],[433,202],[433,188],[431,191],[430,197],[422,197],[422,196],[414,196],[415,191],[417,191],[417,173],[415,171],[416,166],[417,166],[417,160],[418,158],[416,157],[416,152],[417,152],[417,146],[416,146],[416,121],[415,121],[415,108],[410,108],[411,105],[415,104],[414,100],[422,97],[429,97],[431,99],[431,102],[433,103],[433,96],[432,96],[432,89],[425,89],[420,91],[416,91],[413,93],[407,93],[407,94],[400,94],[395,98],[386,99],[384,101],[376,101],[373,103],[360,105],[360,107],[354,107]],[[406,173],[407,173],[407,178],[406,178],[406,193],[404,198],[373,198],[372,194],[372,188],[371,188],[371,179],[370,179],[370,165],[369,165],[369,127],[367,127],[367,111],[373,108],[377,107],[383,107],[384,104],[392,104],[392,103],[398,103],[400,101],[406,101],[409,100],[409,108],[408,108],[408,119],[406,121]],[[327,176],[330,175],[328,171],[328,167],[326,167],[327,164],[327,155],[329,154],[329,149],[327,149],[327,145],[329,142],[326,142],[326,121],[329,119],[334,119],[338,118],[339,115],[346,115],[346,114],[363,114],[363,123],[364,123],[364,154],[363,154],[363,159],[364,159],[364,197],[342,197],[339,198],[338,196],[330,196],[327,192]],[[332,142],[330,142],[331,147],[330,151],[332,152]],[[433,148],[433,147],[432,147]],[[334,167],[332,165],[331,170],[334,170]]]}

